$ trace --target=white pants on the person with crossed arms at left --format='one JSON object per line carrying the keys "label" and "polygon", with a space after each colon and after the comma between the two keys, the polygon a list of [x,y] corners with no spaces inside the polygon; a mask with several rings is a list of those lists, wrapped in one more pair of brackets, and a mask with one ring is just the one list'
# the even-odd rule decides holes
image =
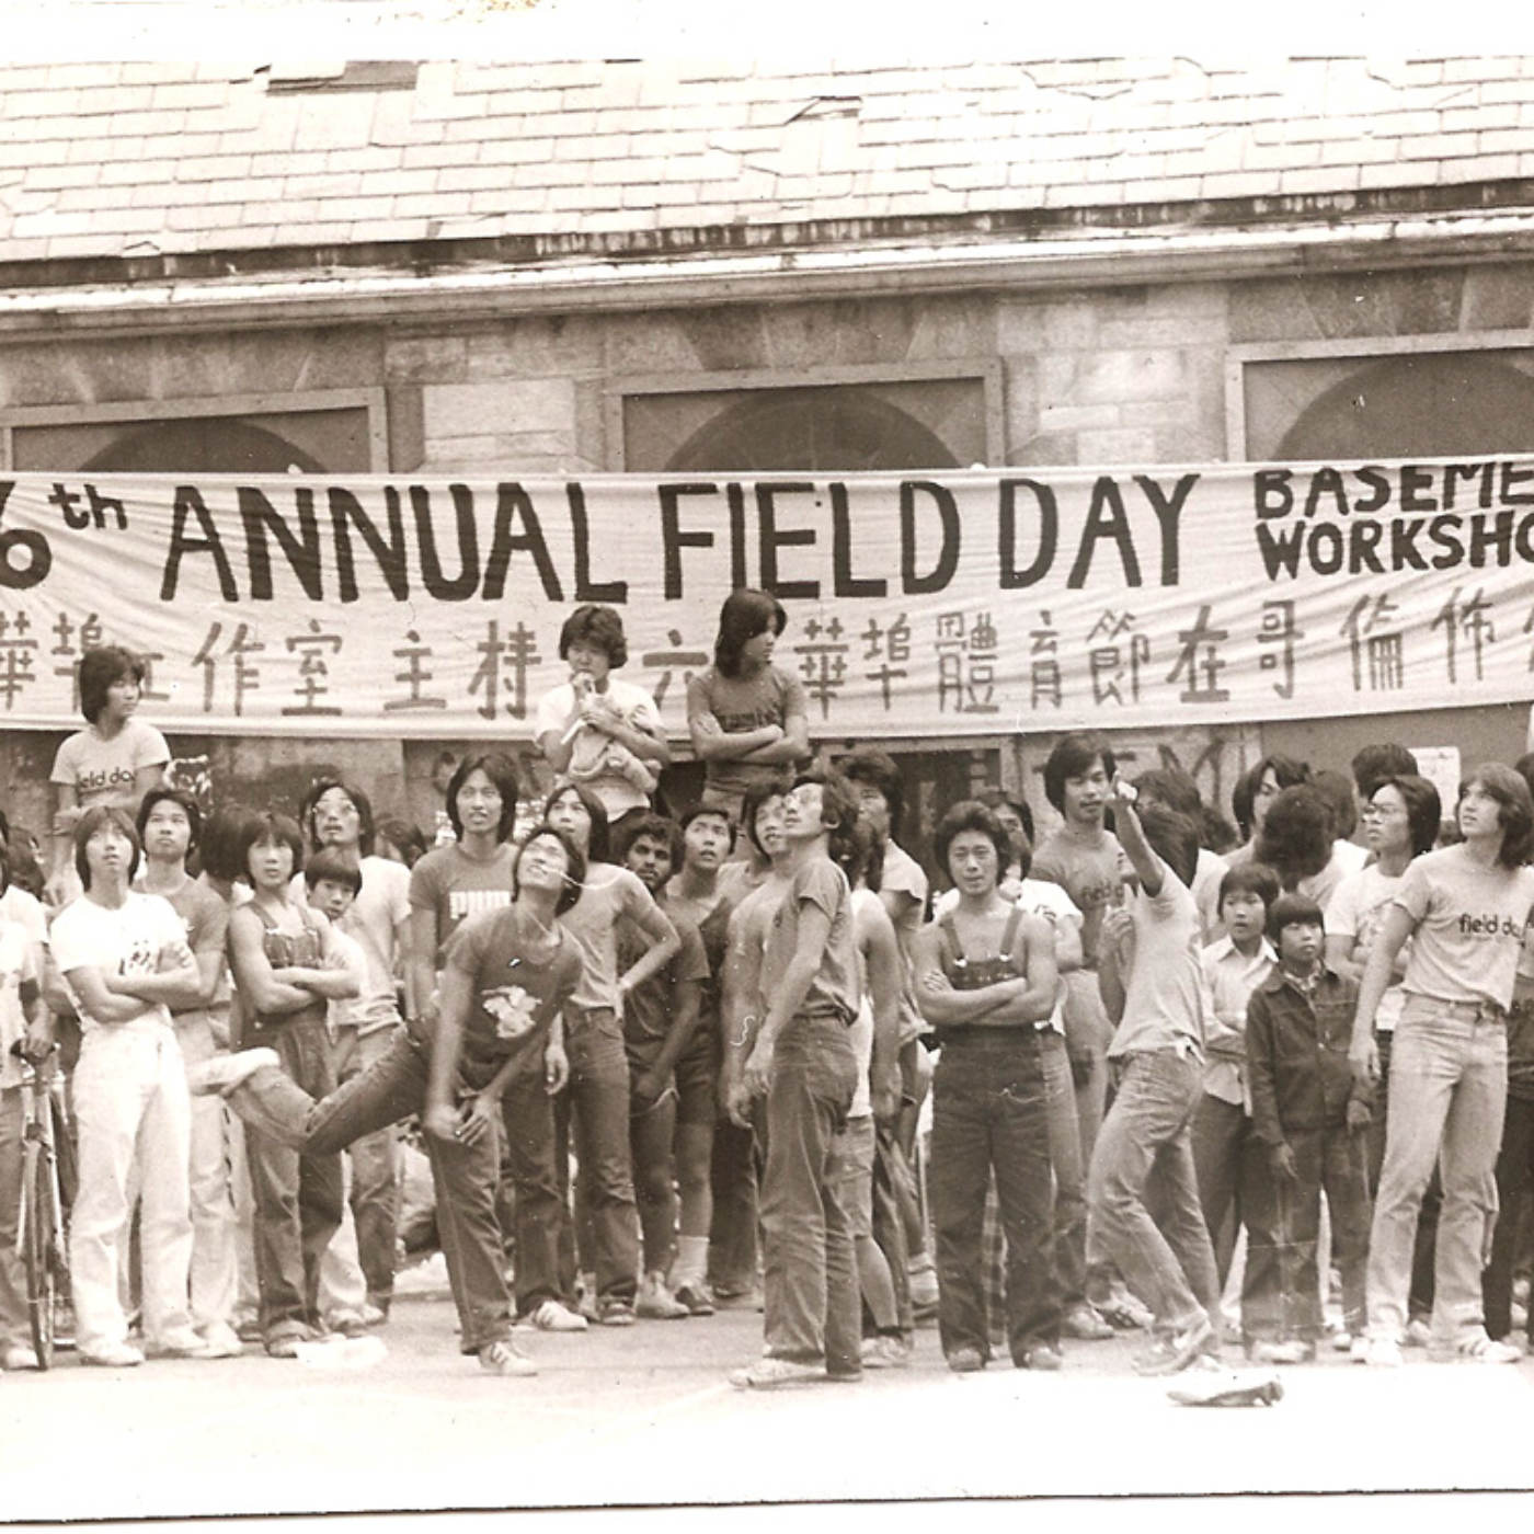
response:
{"label": "white pants on the person with crossed arms at left", "polygon": [[192,1106],[175,1034],[137,1023],[89,1029],[75,1066],[74,1100],[80,1186],[71,1215],[69,1267],[80,1350],[91,1353],[127,1339],[118,1261],[127,1247],[135,1155],[143,1180],[144,1336],[158,1342],[190,1325]]}

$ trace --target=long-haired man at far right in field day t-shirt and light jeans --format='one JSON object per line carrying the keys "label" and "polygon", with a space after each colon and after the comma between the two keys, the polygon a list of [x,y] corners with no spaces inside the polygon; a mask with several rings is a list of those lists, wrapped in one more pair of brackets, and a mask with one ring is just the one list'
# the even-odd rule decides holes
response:
{"label": "long-haired man at far right in field day t-shirt and light jeans", "polygon": [[1348,1060],[1379,1075],[1374,1012],[1407,937],[1405,1002],[1390,1058],[1385,1164],[1368,1244],[1370,1364],[1399,1365],[1417,1206],[1437,1163],[1443,1183],[1433,1338],[1453,1356],[1513,1364],[1486,1335],[1480,1270],[1497,1212],[1496,1164],[1508,1094],[1506,1014],[1534,908],[1534,802],[1500,762],[1477,767],[1459,799],[1456,847],[1407,867],[1364,965]]}

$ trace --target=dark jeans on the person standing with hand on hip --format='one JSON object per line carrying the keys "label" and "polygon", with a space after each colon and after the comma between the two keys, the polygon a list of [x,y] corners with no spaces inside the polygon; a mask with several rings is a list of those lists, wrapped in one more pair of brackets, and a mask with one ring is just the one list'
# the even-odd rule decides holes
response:
{"label": "dark jeans on the person standing with hand on hip", "polygon": [[572,1224],[566,1216],[560,1233],[560,1281],[574,1292],[578,1243],[581,1269],[597,1275],[597,1293],[634,1299],[640,1236],[629,1154],[629,1060],[614,1011],[566,1011],[565,1052],[571,1078],[554,1100],[554,1172],[563,1195],[574,1127],[580,1181],[577,1220]]}

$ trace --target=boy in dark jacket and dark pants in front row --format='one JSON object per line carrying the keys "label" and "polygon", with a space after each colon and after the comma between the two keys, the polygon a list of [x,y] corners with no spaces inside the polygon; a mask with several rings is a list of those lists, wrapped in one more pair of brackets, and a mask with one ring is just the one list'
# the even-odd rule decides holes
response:
{"label": "boy in dark jacket and dark pants in front row", "polygon": [[1324,1332],[1316,1235],[1321,1189],[1342,1270],[1347,1332],[1362,1345],[1368,1261],[1368,1178],[1364,1129],[1371,1089],[1348,1066],[1358,986],[1322,959],[1321,908],[1282,894],[1267,913],[1278,968],[1247,1003],[1252,1127],[1267,1149],[1247,1215],[1241,1332],[1264,1364],[1315,1358]]}

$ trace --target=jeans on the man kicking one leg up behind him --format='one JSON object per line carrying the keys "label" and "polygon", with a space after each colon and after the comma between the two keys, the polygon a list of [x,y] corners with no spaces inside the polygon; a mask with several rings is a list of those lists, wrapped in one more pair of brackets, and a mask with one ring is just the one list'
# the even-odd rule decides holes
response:
{"label": "jeans on the man kicking one leg up behind him", "polygon": [[[426,1101],[428,1068],[426,1046],[400,1029],[387,1054],[319,1101],[270,1066],[236,1086],[227,1101],[253,1131],[287,1146],[290,1155],[333,1158],[362,1135],[419,1114]],[[437,1236],[459,1312],[459,1345],[477,1353],[511,1336],[511,1295],[495,1223],[495,1135],[480,1135],[474,1144],[436,1135],[423,1140],[437,1195]],[[337,1220],[339,1209],[337,1178]]]}

